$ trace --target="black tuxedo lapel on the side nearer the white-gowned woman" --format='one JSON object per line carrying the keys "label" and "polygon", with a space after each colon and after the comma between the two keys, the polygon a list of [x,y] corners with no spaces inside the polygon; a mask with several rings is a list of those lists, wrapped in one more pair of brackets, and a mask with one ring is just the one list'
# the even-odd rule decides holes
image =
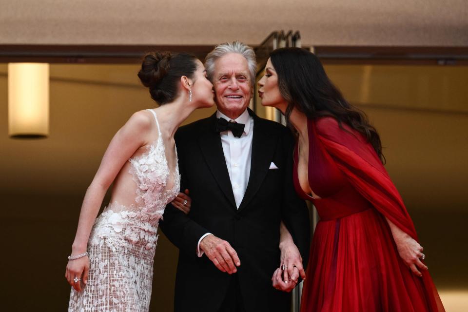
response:
{"label": "black tuxedo lapel on the side nearer the white-gowned woman", "polygon": [[198,145],[216,182],[233,208],[236,209],[233,187],[229,178],[228,168],[226,167],[226,160],[224,159],[221,137],[219,133],[215,132],[215,123],[216,113],[210,117],[207,131],[198,137]]}

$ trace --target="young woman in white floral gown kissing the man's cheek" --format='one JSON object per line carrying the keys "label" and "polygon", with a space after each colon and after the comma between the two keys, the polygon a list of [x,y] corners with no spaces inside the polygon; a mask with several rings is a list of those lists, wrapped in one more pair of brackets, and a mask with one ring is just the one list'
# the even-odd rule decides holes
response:
{"label": "young woman in white floral gown kissing the man's cheek", "polygon": [[[68,311],[149,310],[158,222],[180,188],[174,134],[195,109],[214,105],[194,56],[148,54],[138,77],[159,107],[130,117],[86,191],[65,273]],[[111,183],[110,203],[96,218]]]}

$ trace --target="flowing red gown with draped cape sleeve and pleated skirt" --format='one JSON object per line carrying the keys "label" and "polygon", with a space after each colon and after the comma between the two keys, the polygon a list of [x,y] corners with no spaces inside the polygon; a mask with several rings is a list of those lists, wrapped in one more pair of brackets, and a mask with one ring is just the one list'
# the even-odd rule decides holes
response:
{"label": "flowing red gown with draped cape sleeve and pleated skirt", "polygon": [[301,312],[445,311],[428,271],[411,273],[385,219],[418,240],[414,225],[372,146],[347,125],[308,121],[309,184],[320,215],[313,234]]}

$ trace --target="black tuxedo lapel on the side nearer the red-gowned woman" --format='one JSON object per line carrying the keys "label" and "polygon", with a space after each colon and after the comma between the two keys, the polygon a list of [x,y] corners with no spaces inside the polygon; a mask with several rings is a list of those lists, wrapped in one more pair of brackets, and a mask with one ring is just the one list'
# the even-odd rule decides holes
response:
{"label": "black tuxedo lapel on the side nearer the red-gowned woman", "polygon": [[[251,111],[249,111],[251,112]],[[262,185],[265,176],[270,169],[277,139],[265,130],[261,118],[254,115],[254,137],[252,138],[252,162],[250,166],[249,183],[244,198],[239,206],[239,211],[249,204]]]}

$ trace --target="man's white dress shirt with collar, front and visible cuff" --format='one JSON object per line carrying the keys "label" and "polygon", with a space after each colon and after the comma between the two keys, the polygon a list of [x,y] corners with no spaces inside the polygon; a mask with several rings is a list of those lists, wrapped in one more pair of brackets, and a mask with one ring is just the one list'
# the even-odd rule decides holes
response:
{"label": "man's white dress shirt with collar, front and visible cuff", "polygon": [[[227,121],[232,119],[216,111],[217,118],[224,118]],[[223,146],[224,159],[228,168],[231,186],[233,188],[234,200],[237,209],[242,202],[247,189],[247,183],[250,177],[250,166],[252,162],[252,138],[254,137],[254,118],[249,115],[247,109],[239,117],[234,119],[237,123],[245,124],[244,132],[240,137],[234,137],[231,131],[223,131],[221,136],[221,144]],[[200,242],[205,236],[211,233],[204,234],[198,240],[197,254],[201,257],[204,252],[200,250]]]}

